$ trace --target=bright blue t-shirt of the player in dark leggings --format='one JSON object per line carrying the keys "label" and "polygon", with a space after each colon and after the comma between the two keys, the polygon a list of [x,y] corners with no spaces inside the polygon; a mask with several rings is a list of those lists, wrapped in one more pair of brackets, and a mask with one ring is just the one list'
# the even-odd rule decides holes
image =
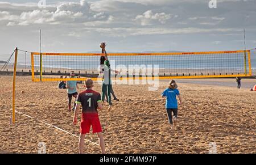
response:
{"label": "bright blue t-shirt of the player in dark leggings", "polygon": [[163,91],[162,96],[166,96],[166,108],[177,108],[176,96],[180,95],[179,90],[167,88]]}

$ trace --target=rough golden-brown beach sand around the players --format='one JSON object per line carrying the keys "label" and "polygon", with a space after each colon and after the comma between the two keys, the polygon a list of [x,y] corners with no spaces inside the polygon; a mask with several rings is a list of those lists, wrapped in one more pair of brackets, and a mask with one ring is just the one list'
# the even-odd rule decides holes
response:
{"label": "rough golden-brown beach sand around the players", "polygon": [[[160,82],[157,91],[148,91],[146,85],[113,86],[121,101],[113,101],[111,111],[105,104],[104,111],[99,112],[107,153],[209,153],[210,142],[216,143],[217,153],[256,153],[256,92],[238,90],[234,79],[207,79],[218,81],[218,85],[176,81],[183,104],[179,105],[179,119],[173,129],[168,125],[165,99],[160,96],[168,82]],[[233,87],[224,86],[232,82]],[[255,79],[243,82],[256,84]],[[79,87],[79,91],[84,89],[83,84]],[[17,77],[16,111],[32,119],[16,113],[15,125],[10,125],[12,77],[0,76],[0,88],[0,153],[38,153],[39,142],[46,143],[46,153],[78,152],[79,124],[73,126],[67,91],[59,90],[57,82]],[[100,84],[95,83],[94,90],[101,91]],[[98,141],[96,134],[86,139]],[[101,152],[88,141],[84,151]]]}

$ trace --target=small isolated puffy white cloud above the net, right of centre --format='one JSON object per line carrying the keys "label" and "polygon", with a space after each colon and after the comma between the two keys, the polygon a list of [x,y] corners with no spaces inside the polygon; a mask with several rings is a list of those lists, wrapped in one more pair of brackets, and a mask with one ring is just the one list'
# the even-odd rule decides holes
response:
{"label": "small isolated puffy white cloud above the net, right of centre", "polygon": [[148,10],[142,15],[137,15],[134,20],[140,22],[142,26],[146,26],[151,25],[154,20],[165,24],[169,19],[171,19],[171,14],[166,14],[164,12],[154,14],[151,10]]}

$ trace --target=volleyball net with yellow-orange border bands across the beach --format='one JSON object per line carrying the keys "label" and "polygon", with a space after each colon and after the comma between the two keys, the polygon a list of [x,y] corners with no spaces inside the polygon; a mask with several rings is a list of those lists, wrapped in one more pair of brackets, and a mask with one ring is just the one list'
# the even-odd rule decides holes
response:
{"label": "volleyball net with yellow-orange border bands across the beach", "polygon": [[[113,78],[250,77],[250,50],[175,53],[109,53]],[[100,74],[98,53],[31,53],[32,81],[83,81]],[[76,78],[69,73],[75,71]]]}

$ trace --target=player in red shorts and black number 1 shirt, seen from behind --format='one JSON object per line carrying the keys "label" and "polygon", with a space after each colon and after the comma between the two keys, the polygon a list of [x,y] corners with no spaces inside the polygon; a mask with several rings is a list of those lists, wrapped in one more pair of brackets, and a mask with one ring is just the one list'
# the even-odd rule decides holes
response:
{"label": "player in red shorts and black number 1 shirt, seen from behind", "polygon": [[82,104],[82,117],[80,123],[80,139],[79,139],[79,153],[82,154],[84,150],[85,134],[90,132],[92,125],[93,133],[97,133],[98,141],[100,143],[102,154],[105,154],[105,142],[102,136],[101,122],[98,118],[98,111],[103,109],[101,95],[93,91],[93,81],[88,79],[85,81],[86,90],[79,93],[76,100],[76,109],[73,119],[73,124],[77,124],[77,113]]}

